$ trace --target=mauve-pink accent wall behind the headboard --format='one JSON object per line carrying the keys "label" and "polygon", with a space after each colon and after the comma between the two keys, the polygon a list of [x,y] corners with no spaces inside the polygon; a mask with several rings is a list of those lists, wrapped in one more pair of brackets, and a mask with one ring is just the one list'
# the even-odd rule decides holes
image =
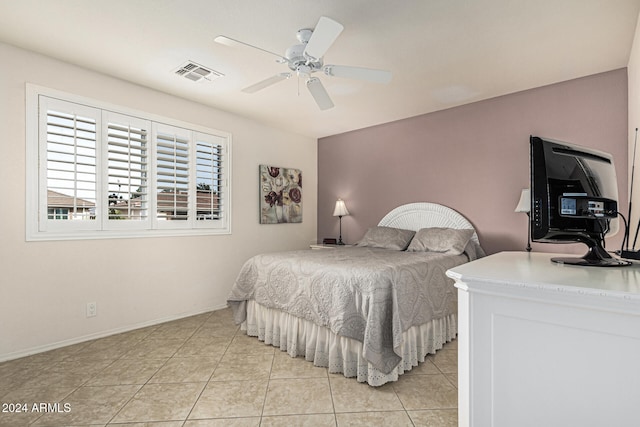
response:
{"label": "mauve-pink accent wall behind the headboard", "polygon": [[[626,213],[627,120],[627,70],[619,69],[322,138],[318,239],[338,236],[339,197],[351,214],[342,218],[346,243],[396,206],[428,201],[465,215],[488,253],[524,250],[527,216],[514,209],[529,186],[529,135],[611,153]],[[607,249],[619,249],[621,236],[607,239]],[[586,246],[533,248],[583,253]]]}

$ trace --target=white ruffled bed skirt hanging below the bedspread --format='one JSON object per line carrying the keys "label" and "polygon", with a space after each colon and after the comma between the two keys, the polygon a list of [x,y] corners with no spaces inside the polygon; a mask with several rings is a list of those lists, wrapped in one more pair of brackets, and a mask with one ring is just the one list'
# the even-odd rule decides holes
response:
{"label": "white ruffled bed skirt hanging below the bedspread", "polygon": [[266,308],[253,300],[247,301],[247,320],[241,327],[247,335],[258,337],[291,357],[304,356],[315,366],[328,368],[331,373],[342,373],[345,377],[356,377],[372,386],[397,381],[404,372],[424,362],[427,354],[435,353],[454,339],[458,330],[456,315],[452,314],[405,331],[402,334],[402,360],[385,374],[364,359],[360,341],[338,336],[326,327]]}

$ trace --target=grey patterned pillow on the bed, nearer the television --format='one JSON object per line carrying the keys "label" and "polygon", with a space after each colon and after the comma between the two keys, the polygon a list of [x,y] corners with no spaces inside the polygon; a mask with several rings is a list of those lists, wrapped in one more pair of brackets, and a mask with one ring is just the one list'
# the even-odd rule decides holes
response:
{"label": "grey patterned pillow on the bed, nearer the television", "polygon": [[411,240],[407,252],[442,252],[460,255],[472,236],[472,229],[423,228]]}

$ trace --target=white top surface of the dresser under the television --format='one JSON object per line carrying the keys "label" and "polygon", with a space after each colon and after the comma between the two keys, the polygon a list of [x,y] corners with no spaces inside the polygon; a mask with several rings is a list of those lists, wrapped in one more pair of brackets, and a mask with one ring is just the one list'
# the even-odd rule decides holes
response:
{"label": "white top surface of the dresser under the television", "polygon": [[[567,254],[500,252],[447,271],[457,282],[494,283],[557,291],[604,292],[640,298],[640,263],[625,267],[558,264],[551,258]],[[603,295],[604,296],[604,295]]]}

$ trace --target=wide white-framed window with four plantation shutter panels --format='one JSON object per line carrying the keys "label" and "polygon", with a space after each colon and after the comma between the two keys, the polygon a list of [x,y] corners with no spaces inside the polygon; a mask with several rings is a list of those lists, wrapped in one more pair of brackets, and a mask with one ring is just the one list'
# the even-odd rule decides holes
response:
{"label": "wide white-framed window with four plantation shutter panels", "polygon": [[28,92],[28,240],[230,232],[228,133]]}

